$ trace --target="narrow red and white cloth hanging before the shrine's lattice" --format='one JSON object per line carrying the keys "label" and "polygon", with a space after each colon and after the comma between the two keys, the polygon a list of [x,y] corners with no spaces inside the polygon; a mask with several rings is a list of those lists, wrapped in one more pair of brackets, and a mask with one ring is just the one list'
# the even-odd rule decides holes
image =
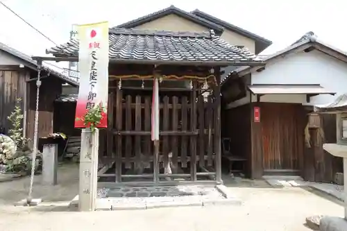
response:
{"label": "narrow red and white cloth hanging before the shrine's lattice", "polygon": [[153,141],[159,140],[159,84],[158,78],[153,80],[153,96],[152,96],[152,133]]}

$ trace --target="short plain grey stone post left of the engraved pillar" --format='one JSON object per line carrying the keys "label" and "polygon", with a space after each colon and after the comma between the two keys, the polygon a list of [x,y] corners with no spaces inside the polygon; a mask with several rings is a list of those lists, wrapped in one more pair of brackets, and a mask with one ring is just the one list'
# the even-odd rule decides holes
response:
{"label": "short plain grey stone post left of the engraved pillar", "polygon": [[44,144],[42,153],[42,183],[57,184],[58,144]]}

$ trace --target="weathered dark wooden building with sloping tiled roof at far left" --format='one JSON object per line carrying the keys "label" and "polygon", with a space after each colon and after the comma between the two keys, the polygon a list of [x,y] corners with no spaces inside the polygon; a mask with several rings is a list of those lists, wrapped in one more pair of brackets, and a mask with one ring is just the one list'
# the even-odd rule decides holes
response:
{"label": "weathered dark wooden building with sloping tiled roof at far left", "polygon": [[[40,78],[38,135],[44,137],[53,132],[53,103],[62,93],[62,84],[78,87],[78,83],[48,67],[42,67]],[[11,128],[7,117],[13,111],[17,98],[21,98],[24,135],[31,139],[34,133],[36,80],[37,63],[30,56],[0,43],[0,126],[6,131]]]}

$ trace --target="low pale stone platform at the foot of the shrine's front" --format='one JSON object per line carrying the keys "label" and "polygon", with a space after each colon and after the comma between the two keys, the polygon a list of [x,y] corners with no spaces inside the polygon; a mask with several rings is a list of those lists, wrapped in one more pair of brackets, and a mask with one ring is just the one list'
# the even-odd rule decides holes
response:
{"label": "low pale stone platform at the foot of the shrine's front", "polygon": [[[99,189],[101,190],[101,189]],[[189,196],[143,196],[143,197],[127,197],[126,194],[136,192],[149,191],[173,191],[172,187],[116,187],[113,189],[102,189],[107,191],[110,197],[99,196],[96,199],[96,210],[127,210],[127,209],[154,209],[160,207],[185,207],[185,206],[212,206],[212,205],[242,205],[242,200],[239,200],[233,196],[231,191],[227,187],[221,187],[219,189],[214,187],[174,187],[174,191],[192,191],[193,194]],[[146,191],[147,190],[147,191]],[[149,191],[148,191],[149,190]],[[224,192],[225,196],[223,196]],[[123,191],[124,196],[112,197],[112,194]],[[136,195],[137,195],[136,194]],[[140,194],[142,195],[142,194]],[[228,198],[226,198],[228,197]],[[74,197],[69,203],[69,206],[78,207],[78,195]]]}

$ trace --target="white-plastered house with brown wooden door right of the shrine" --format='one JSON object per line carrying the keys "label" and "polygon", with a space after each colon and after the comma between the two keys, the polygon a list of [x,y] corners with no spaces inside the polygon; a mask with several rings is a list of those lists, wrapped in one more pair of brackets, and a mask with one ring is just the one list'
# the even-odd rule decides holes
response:
{"label": "white-plastered house with brown wooden door right of the shrine", "polygon": [[[322,123],[307,114],[312,105],[330,103],[335,94],[346,92],[346,53],[310,32],[263,60],[266,67],[242,67],[223,80],[222,136],[230,137],[233,153],[247,158],[245,170],[252,178],[289,174],[332,180],[330,155],[321,142],[312,142],[317,130],[308,129]],[[325,138],[335,137],[335,119],[330,121]]]}

